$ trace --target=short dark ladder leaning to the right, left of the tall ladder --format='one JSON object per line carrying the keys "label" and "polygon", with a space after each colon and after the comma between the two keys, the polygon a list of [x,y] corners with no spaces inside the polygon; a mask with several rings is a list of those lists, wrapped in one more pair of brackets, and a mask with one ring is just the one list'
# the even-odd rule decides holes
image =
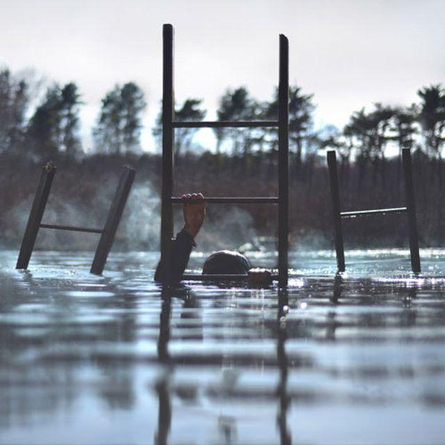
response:
{"label": "short dark ladder leaning to the right, left of the tall ladder", "polygon": [[113,197],[110,210],[108,211],[104,229],[89,229],[86,227],[42,224],[44,208],[47,205],[49,191],[51,190],[55,173],[56,167],[53,163],[47,163],[44,165],[42,174],[40,175],[37,191],[35,192],[33,206],[31,207],[31,212],[29,213],[28,224],[26,225],[22,247],[20,248],[17,266],[15,266],[15,268],[26,269],[28,267],[31,254],[33,253],[35,238],[37,238],[40,228],[57,229],[101,234],[99,243],[97,244],[95,258],[92,261],[90,269],[90,273],[100,275],[104,270],[106,258],[111,250],[111,245],[113,245],[114,236],[118,230],[120,218],[122,216],[122,212],[124,211],[125,202],[127,202],[127,197],[130,193],[134,175],[136,175],[136,170],[128,165],[124,165],[118,188],[116,188],[115,196]]}

